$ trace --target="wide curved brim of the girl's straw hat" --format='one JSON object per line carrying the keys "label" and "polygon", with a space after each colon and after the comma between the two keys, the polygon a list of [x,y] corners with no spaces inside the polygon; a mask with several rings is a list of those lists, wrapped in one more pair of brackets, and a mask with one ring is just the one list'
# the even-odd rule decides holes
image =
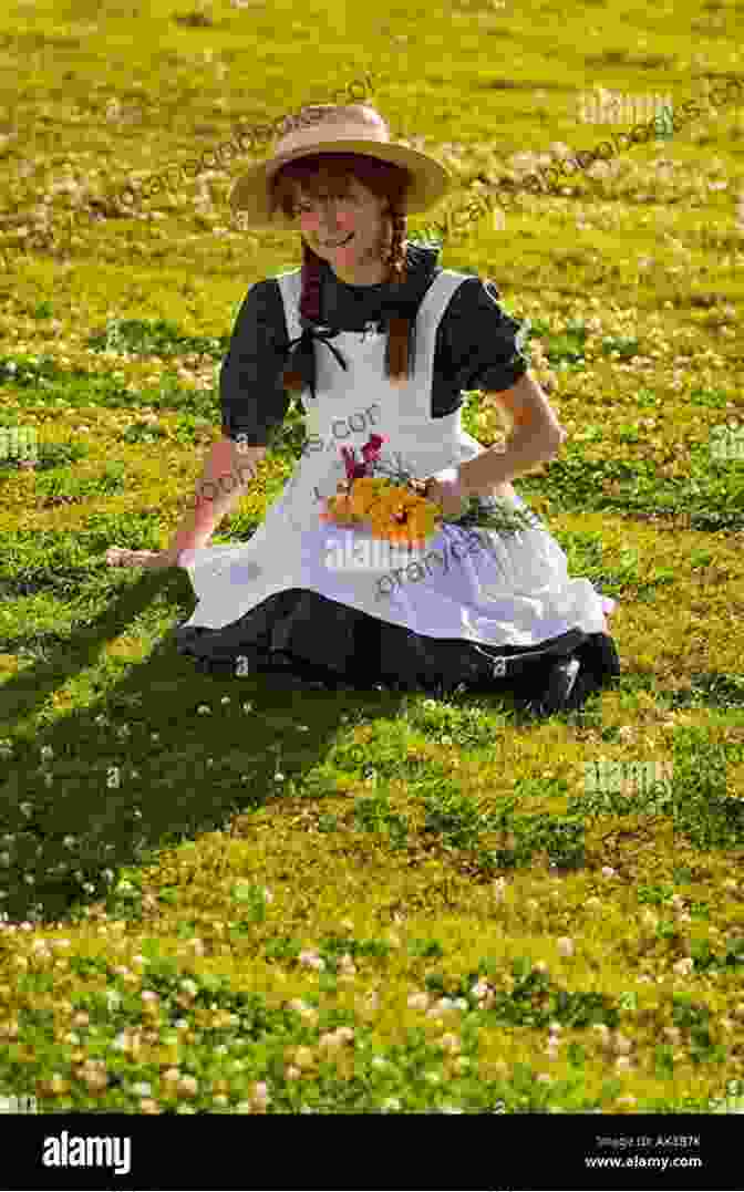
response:
{"label": "wide curved brim of the girl's straw hat", "polygon": [[297,224],[286,219],[281,211],[273,217],[268,206],[268,187],[272,178],[283,166],[299,157],[311,157],[316,154],[356,153],[364,157],[389,161],[401,166],[410,174],[410,186],[404,204],[408,215],[416,215],[433,207],[447,194],[452,185],[448,172],[433,157],[398,144],[376,144],[370,141],[318,141],[308,149],[296,149],[292,153],[279,154],[268,161],[259,162],[237,180],[230,192],[230,206],[234,211],[244,212],[246,222],[252,228],[296,229]]}

